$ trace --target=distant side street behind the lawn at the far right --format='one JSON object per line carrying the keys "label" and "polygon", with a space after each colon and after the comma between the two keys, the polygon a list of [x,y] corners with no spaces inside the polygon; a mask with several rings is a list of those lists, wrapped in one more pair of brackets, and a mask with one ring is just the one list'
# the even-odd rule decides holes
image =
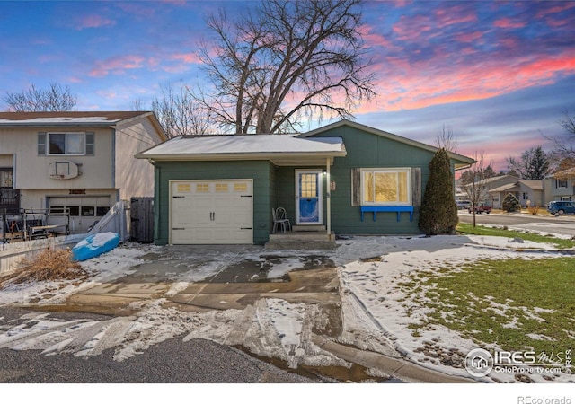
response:
{"label": "distant side street behind the lawn at the far right", "polygon": [[[459,221],[473,224],[473,214],[466,210],[459,211]],[[575,236],[574,215],[522,215],[522,214],[497,214],[475,215],[476,224],[487,226],[508,226],[509,230],[520,230],[537,233],[557,234],[564,237]]]}

